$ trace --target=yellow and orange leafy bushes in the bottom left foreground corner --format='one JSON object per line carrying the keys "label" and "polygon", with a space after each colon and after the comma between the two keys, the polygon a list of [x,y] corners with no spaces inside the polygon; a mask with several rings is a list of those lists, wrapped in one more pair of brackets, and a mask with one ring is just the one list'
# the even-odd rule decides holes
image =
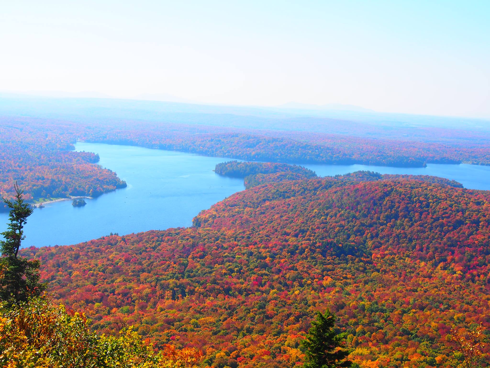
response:
{"label": "yellow and orange leafy bushes in the bottom left foreground corner", "polygon": [[131,327],[119,336],[98,335],[85,315],[44,296],[0,307],[0,367],[192,368],[202,356],[172,346],[155,352]]}

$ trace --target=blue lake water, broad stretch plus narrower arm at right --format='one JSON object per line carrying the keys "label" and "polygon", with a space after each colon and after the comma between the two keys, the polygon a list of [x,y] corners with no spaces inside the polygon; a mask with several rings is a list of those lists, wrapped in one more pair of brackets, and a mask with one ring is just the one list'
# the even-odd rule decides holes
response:
{"label": "blue lake water, broad stretch plus narrower arm at right", "polygon": [[[71,201],[35,209],[25,225],[23,246],[65,245],[108,235],[190,226],[200,210],[243,190],[243,180],[221,177],[215,165],[229,158],[151,150],[142,147],[79,142],[77,151],[98,153],[99,164],[115,171],[127,187],[84,207]],[[466,188],[490,189],[490,166],[429,164],[425,168],[367,165],[312,165],[319,176],[371,170],[382,174],[423,174],[454,179]],[[0,231],[8,216],[0,213]]]}

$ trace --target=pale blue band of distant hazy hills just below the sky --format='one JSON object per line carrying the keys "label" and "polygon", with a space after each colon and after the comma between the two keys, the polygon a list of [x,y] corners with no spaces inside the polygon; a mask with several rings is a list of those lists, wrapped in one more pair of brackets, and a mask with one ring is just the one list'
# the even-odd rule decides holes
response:
{"label": "pale blue band of distant hazy hills just below the sky", "polygon": [[175,98],[174,101],[53,98],[7,93],[0,94],[0,114],[55,119],[131,119],[251,129],[327,132],[325,129],[318,129],[315,124],[311,128],[310,124],[295,125],[298,120],[312,118],[343,121],[339,125],[345,125],[346,121],[347,124],[374,125],[387,129],[432,127],[490,132],[490,120],[485,119],[383,113],[352,105],[317,106],[292,103],[282,106],[233,106],[179,102],[181,100],[185,101],[180,98]]}

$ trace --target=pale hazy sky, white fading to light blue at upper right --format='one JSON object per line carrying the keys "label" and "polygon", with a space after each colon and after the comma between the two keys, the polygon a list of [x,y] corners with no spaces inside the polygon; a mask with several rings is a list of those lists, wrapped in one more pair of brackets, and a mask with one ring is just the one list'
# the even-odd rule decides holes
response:
{"label": "pale hazy sky, white fading to light blue at upper right", "polygon": [[490,117],[490,1],[0,1],[0,90]]}

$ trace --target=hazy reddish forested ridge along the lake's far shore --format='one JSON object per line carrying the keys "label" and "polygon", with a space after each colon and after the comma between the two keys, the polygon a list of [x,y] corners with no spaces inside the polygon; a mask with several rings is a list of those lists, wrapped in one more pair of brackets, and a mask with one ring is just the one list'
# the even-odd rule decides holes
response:
{"label": "hazy reddish forested ridge along the lake's far shore", "polygon": [[306,134],[216,128],[205,125],[144,124],[90,126],[77,131],[88,142],[129,144],[256,161],[423,167],[427,162],[490,164],[490,149],[471,142],[420,142],[356,135]]}

